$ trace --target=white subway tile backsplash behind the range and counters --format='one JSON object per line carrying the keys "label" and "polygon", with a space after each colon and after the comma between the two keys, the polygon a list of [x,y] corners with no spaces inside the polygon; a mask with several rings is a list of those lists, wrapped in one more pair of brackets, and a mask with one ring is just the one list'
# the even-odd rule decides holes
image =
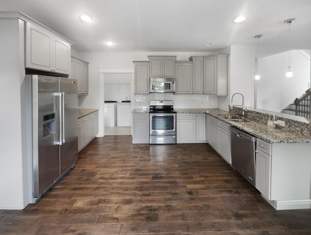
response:
{"label": "white subway tile backsplash behind the range and counters", "polygon": [[173,100],[174,108],[220,108],[228,111],[228,96],[207,94],[135,94],[135,108],[149,108],[150,100]]}

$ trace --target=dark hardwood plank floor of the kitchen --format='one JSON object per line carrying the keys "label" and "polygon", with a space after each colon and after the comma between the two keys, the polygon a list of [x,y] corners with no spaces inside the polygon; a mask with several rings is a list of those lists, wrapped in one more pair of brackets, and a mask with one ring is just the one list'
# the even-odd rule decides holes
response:
{"label": "dark hardwood plank floor of the kitchen", "polygon": [[0,210],[0,234],[311,234],[311,210],[276,211],[207,144],[95,139],[36,204]]}

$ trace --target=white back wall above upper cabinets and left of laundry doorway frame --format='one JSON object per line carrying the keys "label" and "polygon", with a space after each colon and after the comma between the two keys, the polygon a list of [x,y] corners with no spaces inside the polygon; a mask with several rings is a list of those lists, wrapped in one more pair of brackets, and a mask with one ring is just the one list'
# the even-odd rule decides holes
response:
{"label": "white back wall above upper cabinets and left of laundry doorway frame", "polygon": [[99,68],[133,68],[133,61],[148,61],[148,55],[176,55],[176,61],[190,56],[215,53],[198,52],[79,52],[77,57],[89,62],[88,95],[79,96],[79,108],[99,108]]}

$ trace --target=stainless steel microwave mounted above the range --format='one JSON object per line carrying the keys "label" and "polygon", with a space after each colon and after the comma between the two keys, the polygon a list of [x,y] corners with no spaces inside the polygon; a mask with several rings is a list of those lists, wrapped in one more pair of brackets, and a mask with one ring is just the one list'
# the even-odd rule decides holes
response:
{"label": "stainless steel microwave mounted above the range", "polygon": [[150,78],[150,93],[175,93],[175,78]]}

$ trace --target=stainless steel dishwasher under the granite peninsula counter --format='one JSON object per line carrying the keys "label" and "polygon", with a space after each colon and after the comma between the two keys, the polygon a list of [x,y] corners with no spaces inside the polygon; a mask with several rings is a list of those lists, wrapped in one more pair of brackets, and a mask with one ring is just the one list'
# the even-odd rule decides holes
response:
{"label": "stainless steel dishwasher under the granite peninsula counter", "polygon": [[255,187],[256,137],[238,128],[230,127],[232,166]]}

